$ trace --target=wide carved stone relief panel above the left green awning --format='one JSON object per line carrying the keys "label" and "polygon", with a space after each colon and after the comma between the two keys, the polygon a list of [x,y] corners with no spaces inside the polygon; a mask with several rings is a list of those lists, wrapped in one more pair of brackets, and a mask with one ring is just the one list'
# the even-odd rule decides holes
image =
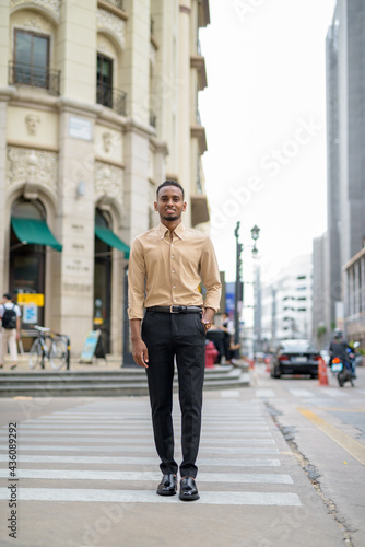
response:
{"label": "wide carved stone relief panel above the left green awning", "polygon": [[57,189],[58,154],[26,148],[8,148],[7,186],[32,184]]}

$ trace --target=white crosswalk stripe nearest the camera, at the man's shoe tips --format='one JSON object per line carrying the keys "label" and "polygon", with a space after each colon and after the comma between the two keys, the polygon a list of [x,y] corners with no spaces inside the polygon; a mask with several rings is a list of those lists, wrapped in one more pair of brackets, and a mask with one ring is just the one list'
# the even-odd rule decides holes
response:
{"label": "white crosswalk stripe nearest the camera, at the man's shoe tips", "polygon": [[[0,500],[8,500],[7,488],[0,489]],[[22,488],[21,501],[68,501],[68,502],[103,502],[103,503],[184,503],[178,496],[166,499],[157,496],[155,490],[99,490],[99,489],[60,489],[60,488]],[[202,492],[196,505],[281,505],[299,507],[296,493],[281,492]]]}

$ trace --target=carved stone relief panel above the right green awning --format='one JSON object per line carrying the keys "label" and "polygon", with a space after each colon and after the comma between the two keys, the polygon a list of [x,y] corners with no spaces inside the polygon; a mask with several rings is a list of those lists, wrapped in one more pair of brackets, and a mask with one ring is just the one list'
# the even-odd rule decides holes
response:
{"label": "carved stone relief panel above the right green awning", "polygon": [[95,201],[111,203],[122,208],[122,168],[95,162]]}

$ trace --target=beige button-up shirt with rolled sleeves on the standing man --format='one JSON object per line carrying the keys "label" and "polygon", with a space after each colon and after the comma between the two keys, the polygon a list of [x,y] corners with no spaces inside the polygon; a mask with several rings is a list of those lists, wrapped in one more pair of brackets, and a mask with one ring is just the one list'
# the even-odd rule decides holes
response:
{"label": "beige button-up shirt with rolled sleeves on the standing man", "polygon": [[[199,291],[201,280],[205,300]],[[203,232],[178,224],[170,238],[160,223],[132,243],[128,272],[128,315],[143,319],[143,307],[186,305],[217,311],[221,279],[210,237]]]}

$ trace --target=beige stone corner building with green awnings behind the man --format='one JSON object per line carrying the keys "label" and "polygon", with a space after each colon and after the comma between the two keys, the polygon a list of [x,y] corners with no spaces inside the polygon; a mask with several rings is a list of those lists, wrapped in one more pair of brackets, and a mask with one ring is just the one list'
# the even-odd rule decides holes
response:
{"label": "beige stone corner building with green awnings behind the man", "polygon": [[209,22],[208,0],[0,0],[0,290],[25,348],[38,323],[75,354],[99,325],[127,351],[128,252],[157,221],[156,186],[177,179],[185,222],[209,220]]}

